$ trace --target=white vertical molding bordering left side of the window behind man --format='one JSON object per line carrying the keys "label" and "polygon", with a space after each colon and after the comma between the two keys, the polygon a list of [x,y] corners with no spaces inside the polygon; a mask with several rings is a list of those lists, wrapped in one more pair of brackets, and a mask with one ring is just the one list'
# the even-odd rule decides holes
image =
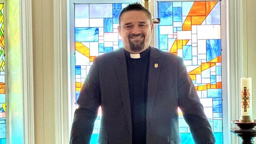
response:
{"label": "white vertical molding bordering left side of the window behind man", "polygon": [[55,144],[69,143],[67,0],[54,0]]}

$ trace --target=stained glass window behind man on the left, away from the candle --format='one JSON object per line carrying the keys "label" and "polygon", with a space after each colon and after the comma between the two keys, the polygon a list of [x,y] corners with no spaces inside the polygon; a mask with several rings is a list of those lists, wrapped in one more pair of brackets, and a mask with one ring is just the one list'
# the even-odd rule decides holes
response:
{"label": "stained glass window behind man on the left, away from the candle", "polygon": [[[128,4],[74,4],[76,100],[93,59],[98,55],[123,47],[117,30],[118,17],[122,8]],[[91,144],[97,142],[100,117],[99,110]]]}

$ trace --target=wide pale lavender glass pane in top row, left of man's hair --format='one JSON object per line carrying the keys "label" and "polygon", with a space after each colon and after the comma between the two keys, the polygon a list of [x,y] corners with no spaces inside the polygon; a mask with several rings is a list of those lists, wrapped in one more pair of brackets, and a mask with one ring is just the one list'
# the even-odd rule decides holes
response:
{"label": "wide pale lavender glass pane in top row, left of man's hair", "polygon": [[90,4],[89,18],[111,18],[112,4]]}

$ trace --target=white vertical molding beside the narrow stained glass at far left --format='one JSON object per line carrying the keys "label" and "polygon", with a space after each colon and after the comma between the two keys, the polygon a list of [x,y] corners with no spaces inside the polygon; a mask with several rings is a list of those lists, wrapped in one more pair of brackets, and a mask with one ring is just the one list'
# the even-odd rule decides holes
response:
{"label": "white vertical molding beside the narrow stained glass at far left", "polygon": [[34,144],[33,44],[31,0],[20,0],[24,143]]}

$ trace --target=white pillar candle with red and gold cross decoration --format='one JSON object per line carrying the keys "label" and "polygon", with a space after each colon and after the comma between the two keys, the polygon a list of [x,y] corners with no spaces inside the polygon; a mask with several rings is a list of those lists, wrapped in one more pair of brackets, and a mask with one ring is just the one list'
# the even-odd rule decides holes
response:
{"label": "white pillar candle with red and gold cross decoration", "polygon": [[252,116],[252,78],[240,79],[241,116]]}

